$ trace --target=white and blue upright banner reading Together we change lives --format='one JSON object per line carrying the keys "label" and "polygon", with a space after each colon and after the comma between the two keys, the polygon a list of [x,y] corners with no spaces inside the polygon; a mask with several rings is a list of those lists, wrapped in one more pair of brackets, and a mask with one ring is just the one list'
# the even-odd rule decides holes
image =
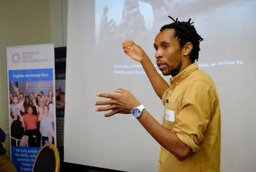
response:
{"label": "white and blue upright banner reading Together we change lives", "polygon": [[53,44],[6,48],[11,160],[18,172],[32,171],[46,143],[56,145]]}

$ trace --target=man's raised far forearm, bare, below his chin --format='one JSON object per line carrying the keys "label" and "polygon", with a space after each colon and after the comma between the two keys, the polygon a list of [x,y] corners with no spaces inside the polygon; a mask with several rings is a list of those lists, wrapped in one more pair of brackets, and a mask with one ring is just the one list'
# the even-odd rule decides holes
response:
{"label": "man's raised far forearm, bare, below his chin", "polygon": [[165,79],[160,76],[148,56],[143,58],[143,60],[141,61],[141,65],[145,70],[148,79],[151,81],[155,93],[160,99],[162,99],[162,95],[165,93],[167,88],[169,88],[169,84],[167,83],[167,81],[165,81]]}

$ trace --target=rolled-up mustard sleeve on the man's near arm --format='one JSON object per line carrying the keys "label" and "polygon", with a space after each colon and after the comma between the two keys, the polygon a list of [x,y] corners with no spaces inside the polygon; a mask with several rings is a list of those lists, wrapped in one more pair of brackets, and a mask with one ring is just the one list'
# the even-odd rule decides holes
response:
{"label": "rolled-up mustard sleeve on the man's near arm", "polygon": [[181,100],[181,110],[173,131],[192,152],[200,150],[199,144],[204,138],[215,100],[215,91],[203,81],[193,81]]}

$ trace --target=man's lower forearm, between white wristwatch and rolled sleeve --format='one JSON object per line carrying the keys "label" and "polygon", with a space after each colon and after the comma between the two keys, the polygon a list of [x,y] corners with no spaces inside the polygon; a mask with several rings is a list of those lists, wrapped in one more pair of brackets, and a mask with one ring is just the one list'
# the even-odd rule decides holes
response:
{"label": "man's lower forearm, between white wristwatch and rolled sleeve", "polygon": [[169,131],[156,121],[151,114],[143,110],[141,117],[139,117],[141,125],[152,135],[155,140],[165,147],[170,153],[174,154],[179,161],[184,161],[191,152],[190,148],[179,140],[176,133]]}

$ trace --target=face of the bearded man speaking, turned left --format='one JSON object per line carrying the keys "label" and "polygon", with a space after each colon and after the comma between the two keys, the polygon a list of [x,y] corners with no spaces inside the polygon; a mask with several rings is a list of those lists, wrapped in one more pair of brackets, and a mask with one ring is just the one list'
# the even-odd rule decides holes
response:
{"label": "face of the bearded man speaking, turned left", "polygon": [[182,50],[174,29],[164,29],[155,37],[155,58],[163,75],[176,76],[182,65]]}

